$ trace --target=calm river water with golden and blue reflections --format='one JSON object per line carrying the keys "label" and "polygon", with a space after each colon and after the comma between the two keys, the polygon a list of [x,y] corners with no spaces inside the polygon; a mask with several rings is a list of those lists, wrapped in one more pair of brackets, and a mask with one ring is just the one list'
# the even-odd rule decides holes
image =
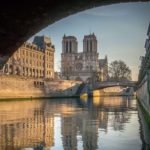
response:
{"label": "calm river water with golden and blue reflections", "polygon": [[134,98],[0,102],[0,150],[149,150]]}

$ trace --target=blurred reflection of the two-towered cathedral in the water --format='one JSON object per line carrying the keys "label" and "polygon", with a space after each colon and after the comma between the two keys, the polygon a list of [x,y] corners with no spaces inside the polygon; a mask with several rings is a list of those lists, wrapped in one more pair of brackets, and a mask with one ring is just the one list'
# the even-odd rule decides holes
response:
{"label": "blurred reflection of the two-towered cathedral in the water", "polygon": [[79,133],[83,141],[83,150],[96,150],[100,124],[98,119],[99,113],[95,111],[62,117],[61,132],[64,150],[77,150]]}

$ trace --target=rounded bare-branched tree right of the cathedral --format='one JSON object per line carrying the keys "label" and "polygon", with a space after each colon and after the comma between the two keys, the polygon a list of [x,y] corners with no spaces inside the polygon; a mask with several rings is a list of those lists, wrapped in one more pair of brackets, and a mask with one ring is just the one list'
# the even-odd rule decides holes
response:
{"label": "rounded bare-branched tree right of the cathedral", "polygon": [[125,81],[131,80],[131,70],[125,64],[125,62],[115,60],[109,67],[110,80]]}

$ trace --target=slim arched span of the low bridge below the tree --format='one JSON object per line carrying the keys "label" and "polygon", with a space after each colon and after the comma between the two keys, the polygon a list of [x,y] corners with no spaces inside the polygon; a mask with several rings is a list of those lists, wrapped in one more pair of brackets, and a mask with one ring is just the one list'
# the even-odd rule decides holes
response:
{"label": "slim arched span of the low bridge below the tree", "polygon": [[123,87],[136,87],[135,81],[104,81],[104,82],[96,82],[93,84],[94,89],[104,89],[107,87],[116,87],[116,86],[123,86]]}

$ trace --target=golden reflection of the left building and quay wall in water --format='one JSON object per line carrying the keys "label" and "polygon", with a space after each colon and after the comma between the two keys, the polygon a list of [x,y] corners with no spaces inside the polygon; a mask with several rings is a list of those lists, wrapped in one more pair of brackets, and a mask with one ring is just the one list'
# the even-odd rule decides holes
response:
{"label": "golden reflection of the left building and quay wall in water", "polygon": [[54,145],[54,116],[38,101],[0,103],[1,150]]}

